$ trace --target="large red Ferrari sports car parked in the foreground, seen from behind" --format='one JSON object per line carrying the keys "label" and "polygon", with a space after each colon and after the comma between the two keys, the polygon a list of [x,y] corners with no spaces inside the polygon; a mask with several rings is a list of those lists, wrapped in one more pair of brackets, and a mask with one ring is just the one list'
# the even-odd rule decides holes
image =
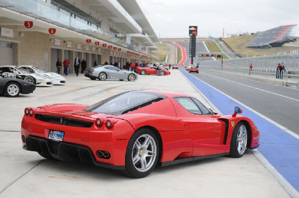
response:
{"label": "large red Ferrari sports car parked in the foreground, seen from behind", "polygon": [[255,149],[259,130],[247,117],[220,115],[192,96],[132,91],[91,106],[52,104],[25,108],[23,149],[44,158],[86,162],[143,178],[158,164],[230,155]]}

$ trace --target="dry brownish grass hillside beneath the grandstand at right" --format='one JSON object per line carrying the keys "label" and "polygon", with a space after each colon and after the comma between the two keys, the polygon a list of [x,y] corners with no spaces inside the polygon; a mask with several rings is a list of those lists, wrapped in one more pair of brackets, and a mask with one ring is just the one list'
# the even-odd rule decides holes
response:
{"label": "dry brownish grass hillside beneath the grandstand at right", "polygon": [[[273,47],[268,49],[252,49],[246,48],[245,45],[254,38],[254,35],[249,36],[238,36],[238,37],[230,37],[223,38],[223,40],[235,51],[240,53],[248,53],[248,56],[262,56],[262,55],[270,55],[276,54],[278,52],[284,52],[289,50],[298,50],[299,47],[290,47],[290,46],[282,46],[282,47]],[[244,54],[240,54],[243,57],[246,57]]]}

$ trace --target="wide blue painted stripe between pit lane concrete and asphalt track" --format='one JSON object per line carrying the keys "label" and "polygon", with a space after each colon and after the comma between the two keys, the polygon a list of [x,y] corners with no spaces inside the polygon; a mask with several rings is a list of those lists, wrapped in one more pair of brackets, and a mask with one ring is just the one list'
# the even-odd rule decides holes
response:
{"label": "wide blue painted stripe between pit lane concrete and asphalt track", "polygon": [[243,109],[242,115],[253,120],[260,131],[260,153],[299,191],[299,139],[181,68],[179,70],[224,115],[232,114],[235,106]]}

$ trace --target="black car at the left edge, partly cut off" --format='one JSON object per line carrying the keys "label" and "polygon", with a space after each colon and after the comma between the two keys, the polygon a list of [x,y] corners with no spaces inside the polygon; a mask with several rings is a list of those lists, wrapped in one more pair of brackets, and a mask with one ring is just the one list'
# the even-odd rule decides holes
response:
{"label": "black car at the left edge, partly cut off", "polygon": [[33,93],[36,86],[21,79],[3,78],[0,76],[0,95],[17,97],[19,94]]}

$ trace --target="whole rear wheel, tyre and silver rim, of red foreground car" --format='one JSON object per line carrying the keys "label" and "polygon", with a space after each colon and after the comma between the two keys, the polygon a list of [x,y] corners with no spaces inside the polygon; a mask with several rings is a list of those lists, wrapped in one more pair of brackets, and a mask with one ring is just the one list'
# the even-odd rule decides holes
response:
{"label": "whole rear wheel, tyre and silver rim, of red foreground car", "polygon": [[151,130],[137,130],[131,137],[126,151],[124,173],[132,178],[148,176],[157,164],[159,143]]}

